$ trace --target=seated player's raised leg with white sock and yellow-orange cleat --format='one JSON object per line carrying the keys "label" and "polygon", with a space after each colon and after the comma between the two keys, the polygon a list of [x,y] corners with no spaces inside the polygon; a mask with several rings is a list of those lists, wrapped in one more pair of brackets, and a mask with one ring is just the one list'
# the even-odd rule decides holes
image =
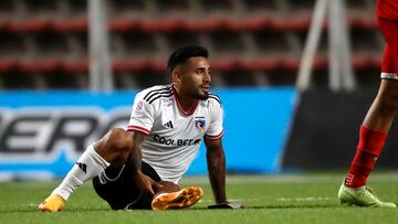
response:
{"label": "seated player's raised leg with white sock and yellow-orange cleat", "polygon": [[123,129],[112,129],[101,140],[87,147],[75,166],[52,194],[39,204],[43,212],[59,212],[70,195],[83,183],[97,177],[109,164],[122,167],[132,148],[132,135]]}

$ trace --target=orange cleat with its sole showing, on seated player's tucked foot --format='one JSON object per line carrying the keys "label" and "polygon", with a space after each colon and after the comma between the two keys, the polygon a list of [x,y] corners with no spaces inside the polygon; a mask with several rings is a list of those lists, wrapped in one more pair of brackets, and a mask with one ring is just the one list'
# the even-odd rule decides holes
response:
{"label": "orange cleat with its sole showing, on seated player's tucked foot", "polygon": [[179,210],[192,206],[203,195],[200,186],[187,186],[172,193],[161,193],[153,202],[153,210]]}

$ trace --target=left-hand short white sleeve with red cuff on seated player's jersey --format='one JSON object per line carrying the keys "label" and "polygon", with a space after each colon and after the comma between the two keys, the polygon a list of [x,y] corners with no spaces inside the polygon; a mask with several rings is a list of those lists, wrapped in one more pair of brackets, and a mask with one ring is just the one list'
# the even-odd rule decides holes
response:
{"label": "left-hand short white sleeve with red cuff on seated player's jersey", "polygon": [[127,130],[138,131],[149,135],[154,125],[155,108],[148,102],[137,95],[134,99],[130,119]]}

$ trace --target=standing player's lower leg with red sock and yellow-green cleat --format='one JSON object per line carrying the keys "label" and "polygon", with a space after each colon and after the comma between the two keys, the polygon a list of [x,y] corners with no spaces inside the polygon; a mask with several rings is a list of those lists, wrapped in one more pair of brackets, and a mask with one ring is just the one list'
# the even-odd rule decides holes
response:
{"label": "standing player's lower leg with red sock and yellow-green cleat", "polygon": [[383,79],[379,93],[360,127],[357,151],[338,192],[342,202],[360,206],[396,207],[394,203],[377,199],[366,186],[366,181],[375,169],[397,110],[398,81]]}

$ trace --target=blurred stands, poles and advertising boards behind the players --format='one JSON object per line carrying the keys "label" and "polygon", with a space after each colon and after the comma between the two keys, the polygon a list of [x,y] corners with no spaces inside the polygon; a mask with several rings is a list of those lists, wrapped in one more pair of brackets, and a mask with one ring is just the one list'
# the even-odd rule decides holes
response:
{"label": "blurred stands, poles and advertising boards behind the players", "polygon": [[348,168],[379,85],[374,0],[0,0],[0,179],[63,177],[187,44],[210,51],[230,173]]}

